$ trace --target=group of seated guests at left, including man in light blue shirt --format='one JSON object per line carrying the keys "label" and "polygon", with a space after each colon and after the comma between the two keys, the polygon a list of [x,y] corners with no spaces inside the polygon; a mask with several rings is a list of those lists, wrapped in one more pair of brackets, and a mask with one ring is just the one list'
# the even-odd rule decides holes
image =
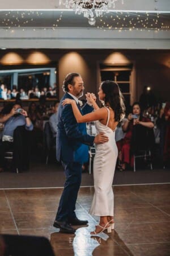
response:
{"label": "group of seated guests at left, including man in light blue shirt", "polygon": [[14,146],[14,131],[23,126],[25,130],[31,131],[31,152],[37,152],[38,147],[43,148],[44,123],[49,122],[56,141],[57,133],[57,109],[59,101],[54,101],[52,108],[48,108],[45,96],[40,97],[39,105],[31,102],[28,111],[21,104],[8,104],[0,113],[1,139],[0,139],[0,171],[5,169],[5,152]]}

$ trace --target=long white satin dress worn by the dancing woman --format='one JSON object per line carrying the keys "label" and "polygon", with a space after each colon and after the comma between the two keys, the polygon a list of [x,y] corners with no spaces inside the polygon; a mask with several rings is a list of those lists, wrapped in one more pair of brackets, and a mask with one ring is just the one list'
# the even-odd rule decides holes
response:
{"label": "long white satin dress worn by the dancing woman", "polygon": [[90,214],[96,216],[114,216],[114,195],[112,189],[114,171],[117,161],[117,146],[115,130],[108,127],[110,112],[108,110],[107,124],[95,121],[97,134],[104,133],[109,141],[96,144],[94,158],[94,198],[92,200]]}

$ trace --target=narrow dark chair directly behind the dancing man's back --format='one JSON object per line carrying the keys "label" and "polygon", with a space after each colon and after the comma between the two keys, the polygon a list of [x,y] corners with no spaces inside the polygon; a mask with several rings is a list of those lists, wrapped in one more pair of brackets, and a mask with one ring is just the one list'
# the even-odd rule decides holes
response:
{"label": "narrow dark chair directly behind the dancing man's back", "polygon": [[50,127],[49,122],[46,122],[44,125],[44,148],[46,154],[46,164],[49,162],[49,156],[52,149],[56,150],[56,145],[54,145],[54,137]]}

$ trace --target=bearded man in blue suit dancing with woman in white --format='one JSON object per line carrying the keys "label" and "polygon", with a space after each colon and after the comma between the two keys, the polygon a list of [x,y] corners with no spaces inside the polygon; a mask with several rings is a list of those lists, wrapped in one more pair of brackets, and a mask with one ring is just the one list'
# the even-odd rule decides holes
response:
{"label": "bearded man in blue suit dancing with woman in white", "polygon": [[71,105],[62,106],[65,98],[76,101],[82,114],[92,112],[93,108],[86,104],[81,109],[78,98],[83,96],[83,80],[78,73],[69,73],[64,82],[62,97],[57,114],[57,160],[61,161],[65,170],[66,181],[59,201],[54,227],[62,233],[74,233],[71,225],[86,225],[88,221],[79,220],[75,214],[75,204],[82,179],[82,164],[88,160],[88,146],[94,143],[105,143],[108,137],[98,134],[90,136],[86,132],[86,123],[77,123]]}

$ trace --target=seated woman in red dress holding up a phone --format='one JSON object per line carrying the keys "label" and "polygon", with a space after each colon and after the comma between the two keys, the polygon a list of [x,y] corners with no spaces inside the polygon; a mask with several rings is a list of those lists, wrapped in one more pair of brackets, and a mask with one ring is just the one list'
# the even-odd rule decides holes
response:
{"label": "seated woman in red dress holding up a phone", "polygon": [[128,115],[122,130],[126,132],[126,135],[122,141],[121,147],[121,170],[125,170],[126,164],[133,166],[133,158],[130,155],[130,144],[133,135],[133,126],[141,125],[148,128],[154,128],[154,124],[150,119],[142,116],[141,107],[138,102],[135,102],[132,106],[132,114]]}

